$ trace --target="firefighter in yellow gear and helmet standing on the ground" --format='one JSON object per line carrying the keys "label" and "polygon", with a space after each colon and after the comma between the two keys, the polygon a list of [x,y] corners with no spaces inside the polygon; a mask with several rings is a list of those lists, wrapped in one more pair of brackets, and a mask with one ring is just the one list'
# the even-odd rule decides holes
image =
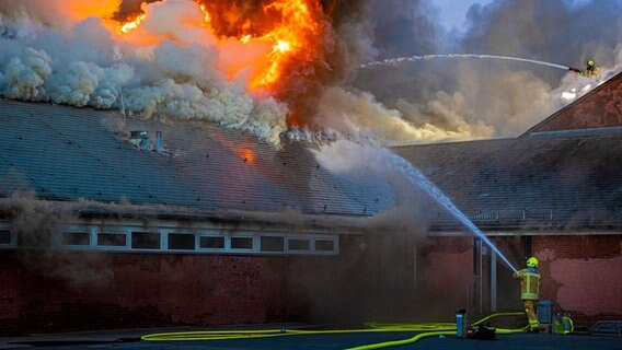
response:
{"label": "firefighter in yellow gear and helmet standing on the ground", "polygon": [[538,259],[527,259],[527,268],[516,271],[514,278],[520,279],[520,299],[525,305],[525,313],[529,319],[529,331],[540,331],[540,324],[535,315],[535,307],[540,299],[540,272],[538,272]]}

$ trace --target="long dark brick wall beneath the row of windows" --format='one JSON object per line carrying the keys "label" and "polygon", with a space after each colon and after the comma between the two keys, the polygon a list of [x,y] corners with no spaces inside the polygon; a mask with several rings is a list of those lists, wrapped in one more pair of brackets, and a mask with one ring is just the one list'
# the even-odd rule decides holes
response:
{"label": "long dark brick wall beneath the row of windows", "polygon": [[392,235],[339,241],[336,256],[3,250],[0,335],[287,320],[360,326],[405,312],[413,246]]}

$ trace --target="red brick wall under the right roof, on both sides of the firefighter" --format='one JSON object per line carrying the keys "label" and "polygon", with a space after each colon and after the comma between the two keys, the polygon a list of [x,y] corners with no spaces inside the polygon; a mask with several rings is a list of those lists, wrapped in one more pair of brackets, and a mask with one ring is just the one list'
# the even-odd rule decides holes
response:
{"label": "red brick wall under the right roof, on both sides of the firefighter", "polygon": [[[496,237],[495,245],[517,268],[522,268],[527,237]],[[622,317],[622,235],[534,235],[530,236],[532,254],[540,260],[542,276],[540,300],[554,303],[553,312],[569,312],[576,326],[589,327],[601,319]],[[528,244],[529,245],[529,244]],[[484,313],[489,312],[487,257],[483,259],[482,278]],[[419,292],[425,291],[428,305],[442,317],[459,308],[479,314],[472,295],[476,282],[473,237],[431,238],[419,249]],[[521,310],[519,284],[511,271],[497,259],[497,311]],[[442,316],[445,314],[445,316]],[[520,319],[519,319],[520,320]]]}

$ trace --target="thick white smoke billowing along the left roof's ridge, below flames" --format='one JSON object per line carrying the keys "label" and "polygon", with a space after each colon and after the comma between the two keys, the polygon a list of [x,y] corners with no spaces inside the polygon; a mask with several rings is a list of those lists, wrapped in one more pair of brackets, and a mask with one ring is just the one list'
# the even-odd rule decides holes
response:
{"label": "thick white smoke billowing along the left roof's ridge, below flames", "polygon": [[[99,10],[110,16],[119,3]],[[200,27],[205,14],[192,0],[143,3],[148,18],[124,39],[100,19],[73,24],[73,14],[58,8],[34,0],[0,3],[0,95],[120,109],[123,94],[130,114],[220,122],[278,144],[287,106],[252,95],[244,74],[227,77],[220,55],[234,56],[230,51],[239,47],[219,47]],[[139,37],[168,39],[135,45]],[[251,50],[269,49],[262,45]]]}

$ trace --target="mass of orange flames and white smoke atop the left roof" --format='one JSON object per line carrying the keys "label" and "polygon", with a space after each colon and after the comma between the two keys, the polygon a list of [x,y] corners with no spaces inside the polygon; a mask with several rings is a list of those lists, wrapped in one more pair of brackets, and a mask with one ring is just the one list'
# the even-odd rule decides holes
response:
{"label": "mass of orange flames and white smoke atop the left roof", "polygon": [[7,97],[207,119],[278,143],[312,127],[323,86],[343,79],[316,0],[59,2],[0,4]]}

